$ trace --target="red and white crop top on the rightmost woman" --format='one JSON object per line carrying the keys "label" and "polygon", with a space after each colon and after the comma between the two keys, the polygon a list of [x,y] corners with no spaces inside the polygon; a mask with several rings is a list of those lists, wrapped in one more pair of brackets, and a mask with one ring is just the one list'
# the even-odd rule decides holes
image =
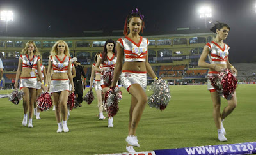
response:
{"label": "red and white crop top on the rightmost woman", "polygon": [[211,64],[227,64],[228,50],[230,49],[227,44],[224,43],[224,47],[221,48],[218,43],[211,41],[205,47],[209,48],[208,59]]}

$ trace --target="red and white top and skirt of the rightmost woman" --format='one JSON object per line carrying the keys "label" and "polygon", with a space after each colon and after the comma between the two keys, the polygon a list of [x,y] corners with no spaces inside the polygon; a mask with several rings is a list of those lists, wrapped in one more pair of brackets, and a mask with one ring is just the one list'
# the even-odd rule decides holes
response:
{"label": "red and white top and skirt of the rightmost woman", "polygon": [[[228,47],[227,44],[224,43],[223,48],[218,45],[218,43],[215,43],[214,41],[211,41],[210,43],[207,43],[205,47],[209,48],[209,54],[208,54],[208,59],[211,64],[227,64],[227,57],[228,57],[228,50],[230,47]],[[218,76],[219,72],[218,71],[210,71],[208,73],[213,74],[214,76]],[[210,92],[216,91],[216,89],[212,86],[211,81],[208,79],[207,80],[207,87]]]}

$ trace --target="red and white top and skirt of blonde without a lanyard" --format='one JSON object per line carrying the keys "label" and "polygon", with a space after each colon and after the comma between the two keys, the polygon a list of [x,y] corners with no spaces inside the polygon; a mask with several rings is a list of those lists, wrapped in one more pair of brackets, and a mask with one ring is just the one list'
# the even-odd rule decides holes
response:
{"label": "red and white top and skirt of blonde without a lanyard", "polygon": [[[60,60],[57,55],[55,57],[49,57],[52,61],[53,73],[68,73],[68,65],[71,57],[63,57],[63,60]],[[51,79],[51,88],[50,92],[61,92],[69,91],[69,80],[68,79]]]}

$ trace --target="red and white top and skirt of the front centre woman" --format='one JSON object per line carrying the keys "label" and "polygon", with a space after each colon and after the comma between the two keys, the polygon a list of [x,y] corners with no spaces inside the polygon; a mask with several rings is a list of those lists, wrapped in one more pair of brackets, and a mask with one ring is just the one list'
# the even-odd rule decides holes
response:
{"label": "red and white top and skirt of the front centre woman", "polygon": [[[147,38],[141,36],[139,43],[135,43],[131,38],[125,36],[124,38],[119,38],[117,43],[124,48],[124,61],[125,62],[136,62],[136,61],[146,61],[147,57],[147,47],[149,41]],[[120,75],[121,83],[129,91],[129,87],[132,84],[140,84],[141,87],[146,91],[147,88],[147,72],[146,71],[130,71],[122,70]]]}

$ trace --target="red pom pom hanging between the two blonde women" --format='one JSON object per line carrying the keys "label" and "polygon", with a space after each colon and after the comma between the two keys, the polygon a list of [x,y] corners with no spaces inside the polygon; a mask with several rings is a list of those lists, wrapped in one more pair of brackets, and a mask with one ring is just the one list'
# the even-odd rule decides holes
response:
{"label": "red pom pom hanging between the two blonde women", "polygon": [[49,92],[41,92],[36,99],[37,107],[41,110],[49,110],[52,107],[52,99]]}

